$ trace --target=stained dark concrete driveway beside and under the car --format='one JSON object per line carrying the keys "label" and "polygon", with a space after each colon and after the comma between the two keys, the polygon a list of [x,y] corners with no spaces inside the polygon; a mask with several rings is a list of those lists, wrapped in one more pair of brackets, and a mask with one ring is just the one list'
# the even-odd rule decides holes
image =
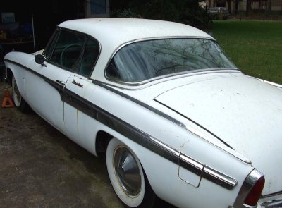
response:
{"label": "stained dark concrete driveway beside and under the car", "polygon": [[[0,82],[2,102],[4,88]],[[124,207],[104,157],[82,149],[33,111],[0,107],[0,207]],[[160,201],[156,207],[172,207]]]}

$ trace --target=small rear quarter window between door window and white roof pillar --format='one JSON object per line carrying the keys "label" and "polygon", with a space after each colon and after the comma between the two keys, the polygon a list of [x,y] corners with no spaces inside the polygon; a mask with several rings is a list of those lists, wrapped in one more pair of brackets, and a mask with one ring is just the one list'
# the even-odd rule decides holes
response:
{"label": "small rear quarter window between door window and white roof pillar", "polygon": [[82,55],[82,61],[80,63],[80,67],[78,73],[80,75],[89,77],[92,69],[94,68],[94,64],[97,61],[99,56],[99,43],[94,39],[87,39],[87,43],[85,45],[85,51]]}

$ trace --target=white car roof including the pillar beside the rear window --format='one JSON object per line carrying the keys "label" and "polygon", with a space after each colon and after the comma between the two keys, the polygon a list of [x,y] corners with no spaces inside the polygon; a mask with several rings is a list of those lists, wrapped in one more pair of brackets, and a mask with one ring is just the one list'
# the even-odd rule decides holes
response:
{"label": "white car roof including the pillar beside the rear window", "polygon": [[[99,41],[101,52],[91,75],[92,79],[103,80],[104,68],[122,45],[142,39],[161,39],[167,37],[197,37],[214,39],[202,30],[188,25],[163,20],[137,18],[86,18],[68,20],[59,24],[71,30],[90,35]],[[103,70],[102,70],[103,69]]]}

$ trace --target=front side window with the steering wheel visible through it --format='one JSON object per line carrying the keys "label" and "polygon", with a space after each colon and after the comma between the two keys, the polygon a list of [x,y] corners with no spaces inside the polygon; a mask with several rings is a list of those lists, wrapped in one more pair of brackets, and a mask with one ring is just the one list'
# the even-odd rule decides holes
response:
{"label": "front side window with the steering wheel visible through it", "polygon": [[[56,65],[63,66],[64,68],[68,68],[70,71],[76,71],[84,42],[84,35],[61,30],[58,40],[56,41],[56,46],[51,50],[52,54],[49,61]],[[50,48],[52,48],[52,46]]]}

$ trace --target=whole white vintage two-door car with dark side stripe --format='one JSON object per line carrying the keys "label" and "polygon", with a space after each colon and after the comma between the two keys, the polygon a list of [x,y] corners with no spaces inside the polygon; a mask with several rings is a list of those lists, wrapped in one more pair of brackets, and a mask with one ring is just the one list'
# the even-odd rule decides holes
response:
{"label": "whole white vintage two-door car with dark side stripe", "polygon": [[127,207],[282,207],[282,88],[243,74],[207,33],[161,20],[58,25],[44,50],[12,51],[6,76],[95,156]]}

